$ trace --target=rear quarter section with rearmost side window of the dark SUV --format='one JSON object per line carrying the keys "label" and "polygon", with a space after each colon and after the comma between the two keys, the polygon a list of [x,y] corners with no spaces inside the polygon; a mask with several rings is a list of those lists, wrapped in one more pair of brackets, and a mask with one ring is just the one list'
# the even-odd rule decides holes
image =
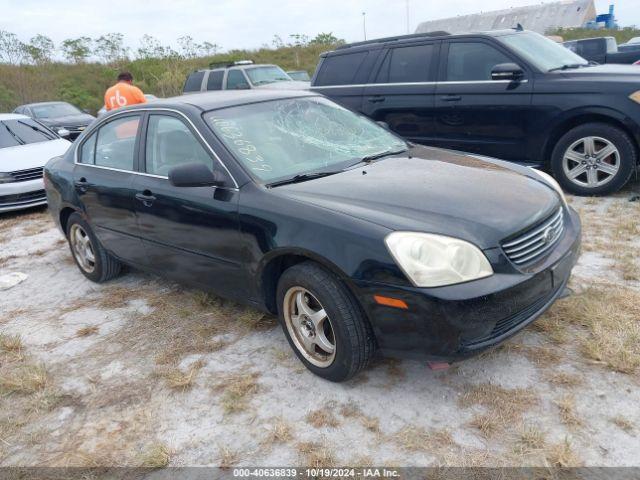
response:
{"label": "rear quarter section with rearmost side window of the dark SUV", "polygon": [[337,52],[322,58],[311,81],[311,90],[326,95],[351,110],[360,111],[363,85],[369,78],[380,50]]}

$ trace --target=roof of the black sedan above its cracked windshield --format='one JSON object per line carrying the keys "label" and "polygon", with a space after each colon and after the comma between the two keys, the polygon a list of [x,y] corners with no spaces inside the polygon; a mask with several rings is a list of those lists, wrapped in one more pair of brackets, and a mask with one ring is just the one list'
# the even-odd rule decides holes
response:
{"label": "roof of the black sedan above its cracked windshield", "polygon": [[119,108],[117,111],[136,110],[140,108],[171,108],[184,105],[207,111],[249,103],[267,102],[270,100],[319,96],[321,95],[309,90],[219,90],[215,92],[190,93],[189,95],[160,99],[153,103],[142,103]]}

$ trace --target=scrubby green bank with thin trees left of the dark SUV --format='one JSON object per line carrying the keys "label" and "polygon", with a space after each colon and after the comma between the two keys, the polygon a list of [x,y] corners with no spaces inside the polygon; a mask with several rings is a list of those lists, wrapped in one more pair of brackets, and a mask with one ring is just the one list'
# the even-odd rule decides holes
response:
{"label": "scrubby green bank with thin trees left of the dark SUV", "polygon": [[212,62],[250,59],[313,73],[320,53],[343,42],[332,33],[291,34],[286,39],[274,36],[258,49],[222,51],[215,43],[197,43],[191,37],[181,37],[172,47],[146,35],[131,50],[119,33],[55,45],[44,35],[21,41],[10,32],[0,32],[0,112],[49,100],[96,112],[120,70],[130,71],[136,85],[159,97],[179,95],[187,75]]}

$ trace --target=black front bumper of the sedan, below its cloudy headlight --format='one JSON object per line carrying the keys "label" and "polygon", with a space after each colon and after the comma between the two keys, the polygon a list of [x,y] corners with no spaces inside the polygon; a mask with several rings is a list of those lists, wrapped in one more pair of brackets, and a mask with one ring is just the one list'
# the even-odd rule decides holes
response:
{"label": "black front bumper of the sedan, below its cloudy headlight", "polygon": [[[569,210],[563,238],[534,272],[495,273],[438,288],[356,282],[382,353],[451,362],[494,346],[533,322],[562,295],[580,253],[580,219]],[[403,300],[383,306],[374,295]]]}

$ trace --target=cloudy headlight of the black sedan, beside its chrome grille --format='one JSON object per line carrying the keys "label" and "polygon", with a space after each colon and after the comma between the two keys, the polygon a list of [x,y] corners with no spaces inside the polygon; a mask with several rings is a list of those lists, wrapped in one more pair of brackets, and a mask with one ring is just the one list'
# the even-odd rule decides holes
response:
{"label": "cloudy headlight of the black sedan, beside its chrome grille", "polygon": [[493,275],[487,257],[464,240],[431,233],[393,232],[385,243],[416,287],[441,287]]}

